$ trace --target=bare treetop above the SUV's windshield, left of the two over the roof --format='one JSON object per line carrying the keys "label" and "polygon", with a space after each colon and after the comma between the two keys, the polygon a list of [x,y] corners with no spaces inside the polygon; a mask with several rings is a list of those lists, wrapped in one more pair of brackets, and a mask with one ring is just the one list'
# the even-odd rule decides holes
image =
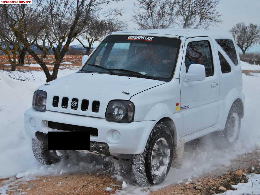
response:
{"label": "bare treetop above the SUV's windshield, left of the two over the roof", "polygon": [[176,19],[176,0],[137,0],[133,22],[140,29],[169,28]]}

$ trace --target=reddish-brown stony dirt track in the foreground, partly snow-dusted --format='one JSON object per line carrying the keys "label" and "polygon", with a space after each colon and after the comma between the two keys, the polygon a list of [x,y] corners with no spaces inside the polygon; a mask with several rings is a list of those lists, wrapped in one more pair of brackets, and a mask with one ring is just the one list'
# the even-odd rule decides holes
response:
{"label": "reddish-brown stony dirt track in the foreground, partly snow-dusted", "polygon": [[[190,194],[207,195],[224,192],[219,190],[223,186],[226,190],[233,190],[231,185],[239,182],[247,182],[247,177],[241,173],[260,173],[258,159],[260,151],[254,151],[241,155],[231,160],[231,165],[218,168],[217,170],[204,174],[192,180],[183,181],[180,185],[174,184],[158,191],[151,192],[151,195],[159,194]],[[254,166],[255,170],[251,167]],[[240,172],[241,171],[241,172]],[[122,182],[111,178],[107,173],[91,174],[68,174],[62,176],[35,177],[29,181],[15,179],[10,181],[0,180],[0,188],[9,185],[7,194],[113,194],[116,190],[122,189]],[[186,184],[185,184],[186,183]],[[19,184],[19,185],[18,185]]]}

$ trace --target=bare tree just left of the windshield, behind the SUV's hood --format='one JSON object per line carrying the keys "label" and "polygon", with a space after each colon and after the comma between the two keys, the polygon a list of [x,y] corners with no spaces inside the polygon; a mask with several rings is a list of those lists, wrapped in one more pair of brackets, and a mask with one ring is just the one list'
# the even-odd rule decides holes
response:
{"label": "bare tree just left of the windshield, behind the SUV's hood", "polygon": [[[89,51],[93,48],[93,44],[96,41],[101,41],[108,33],[113,31],[119,31],[126,29],[125,22],[117,20],[92,20],[86,27],[84,27],[82,33],[76,37],[81,45],[86,49],[85,55],[89,55]],[[86,46],[83,42],[87,41]]]}

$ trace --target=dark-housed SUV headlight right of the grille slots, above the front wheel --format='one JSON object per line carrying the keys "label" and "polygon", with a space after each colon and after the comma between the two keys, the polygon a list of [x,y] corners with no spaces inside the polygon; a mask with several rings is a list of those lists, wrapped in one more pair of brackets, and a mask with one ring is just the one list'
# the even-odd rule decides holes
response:
{"label": "dark-housed SUV headlight right of the grille slots, above the front wheel", "polygon": [[106,120],[129,123],[134,121],[134,104],[128,100],[112,100],[108,103]]}

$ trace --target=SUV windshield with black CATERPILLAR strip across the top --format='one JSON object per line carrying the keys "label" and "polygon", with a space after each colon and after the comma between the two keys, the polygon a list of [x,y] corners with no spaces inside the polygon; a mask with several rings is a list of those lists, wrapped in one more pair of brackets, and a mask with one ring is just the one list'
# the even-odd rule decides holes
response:
{"label": "SUV windshield with black CATERPILLAR strip across the top", "polygon": [[178,38],[110,35],[81,71],[168,81],[176,67],[180,42]]}

